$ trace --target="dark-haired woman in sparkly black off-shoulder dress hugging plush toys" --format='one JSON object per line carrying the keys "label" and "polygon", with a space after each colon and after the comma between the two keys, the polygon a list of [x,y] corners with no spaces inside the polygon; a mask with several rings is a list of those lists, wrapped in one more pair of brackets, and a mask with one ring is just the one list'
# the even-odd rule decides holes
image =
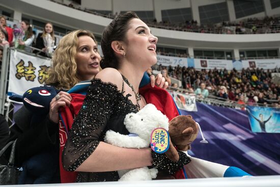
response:
{"label": "dark-haired woman in sparkly black off-shoulder dress hugging plush toys", "polygon": [[[189,162],[180,151],[180,159],[174,163],[150,148],[120,148],[103,142],[108,129],[128,134],[116,119],[147,104],[138,88],[144,72],[157,62],[156,43],[157,37],[134,12],[116,17],[105,28],[100,63],[104,69],[92,80],[62,158],[66,170],[79,171],[77,182],[116,181],[117,170],[144,166],[174,174]],[[115,120],[115,125],[108,125]]]}

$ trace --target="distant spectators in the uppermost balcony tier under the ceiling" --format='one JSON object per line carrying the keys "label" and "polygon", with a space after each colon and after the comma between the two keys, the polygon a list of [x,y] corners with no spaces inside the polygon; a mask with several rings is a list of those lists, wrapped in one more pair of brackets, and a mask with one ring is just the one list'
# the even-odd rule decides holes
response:
{"label": "distant spectators in the uppermost balcony tier under the ceiling", "polygon": [[[55,3],[59,3],[54,0],[50,0]],[[73,3],[62,4],[80,11],[88,12],[91,14],[112,18],[114,19],[119,15],[115,14],[102,14],[100,12],[89,10],[87,8],[82,9],[80,6],[75,6]],[[197,32],[197,33],[215,33],[215,34],[262,34],[262,33],[280,33],[280,17],[264,17],[264,18],[248,18],[243,21],[222,21],[221,23],[207,23],[198,24],[197,20],[187,20],[181,23],[171,23],[169,21],[160,21],[156,19],[150,22],[146,22],[148,26],[160,29],[184,31],[184,32]]]}

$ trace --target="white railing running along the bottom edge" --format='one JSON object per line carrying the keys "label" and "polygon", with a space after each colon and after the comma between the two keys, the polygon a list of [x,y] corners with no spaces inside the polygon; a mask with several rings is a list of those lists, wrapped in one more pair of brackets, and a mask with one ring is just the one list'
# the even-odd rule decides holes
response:
{"label": "white railing running along the bottom edge", "polygon": [[[199,178],[199,179],[174,179],[174,180],[150,180],[132,182],[87,182],[87,183],[65,183],[65,184],[32,184],[33,187],[278,187],[280,175],[258,176],[258,177],[228,177],[228,178]],[[8,186],[8,185],[7,185]],[[27,185],[9,185],[9,187],[20,187]]]}

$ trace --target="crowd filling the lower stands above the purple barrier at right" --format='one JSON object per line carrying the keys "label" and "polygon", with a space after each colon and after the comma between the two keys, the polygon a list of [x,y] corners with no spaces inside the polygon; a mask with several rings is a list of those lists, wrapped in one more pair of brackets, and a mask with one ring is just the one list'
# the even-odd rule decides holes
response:
{"label": "crowd filling the lower stands above the purple barrier at right", "polygon": [[[223,69],[195,70],[186,67],[154,67],[158,71],[166,70],[169,75],[182,81],[185,93],[196,94],[201,98],[208,94],[220,99],[236,101],[239,104],[272,105],[280,107],[280,84],[272,82],[274,70],[242,69],[232,71]],[[177,85],[172,84],[174,88]],[[195,90],[195,91],[194,91]],[[206,91],[207,90],[207,91]]]}

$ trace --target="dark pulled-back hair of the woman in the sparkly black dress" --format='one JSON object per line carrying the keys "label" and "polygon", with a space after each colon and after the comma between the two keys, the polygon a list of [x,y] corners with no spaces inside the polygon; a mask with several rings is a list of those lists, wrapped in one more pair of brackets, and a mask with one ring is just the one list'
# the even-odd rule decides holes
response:
{"label": "dark pulled-back hair of the woman in the sparkly black dress", "polygon": [[111,48],[111,43],[113,41],[125,40],[125,35],[128,30],[128,22],[132,18],[139,19],[135,12],[126,12],[113,19],[113,21],[111,21],[110,24],[104,29],[101,38],[101,48],[104,56],[100,62],[102,69],[107,67],[116,69],[119,68],[119,62],[113,48]]}

